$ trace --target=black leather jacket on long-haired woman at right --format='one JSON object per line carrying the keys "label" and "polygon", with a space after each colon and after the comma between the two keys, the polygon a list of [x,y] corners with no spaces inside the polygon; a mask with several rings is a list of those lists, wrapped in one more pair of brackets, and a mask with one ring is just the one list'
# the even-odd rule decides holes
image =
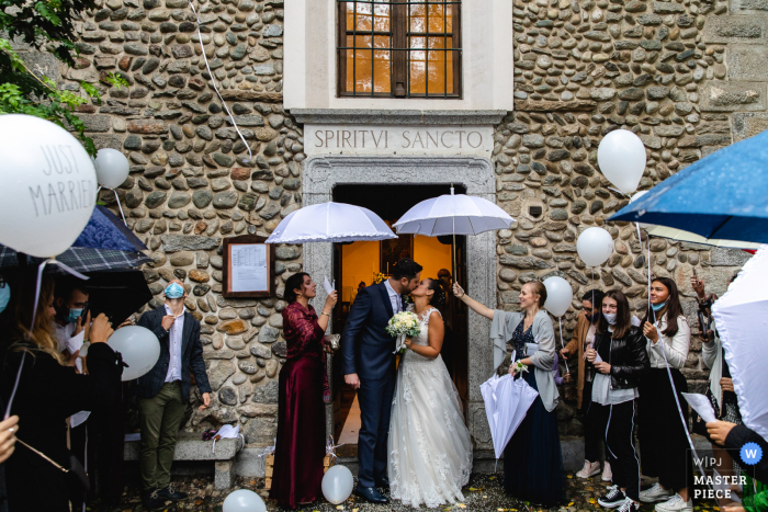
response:
{"label": "black leather jacket on long-haired woman at right", "polygon": [[[632,326],[623,338],[611,339],[610,332],[595,334],[595,350],[601,343],[610,343],[607,363],[611,365],[611,389],[632,389],[640,386],[641,376],[651,368],[646,340],[639,327]],[[587,361],[592,375],[595,366]]]}

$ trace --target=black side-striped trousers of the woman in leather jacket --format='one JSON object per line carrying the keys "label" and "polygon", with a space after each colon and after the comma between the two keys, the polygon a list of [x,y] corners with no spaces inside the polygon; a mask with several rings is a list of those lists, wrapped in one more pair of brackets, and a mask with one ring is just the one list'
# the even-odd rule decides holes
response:
{"label": "black side-striped trousers of the woman in leather jacket", "polygon": [[626,496],[640,501],[640,460],[634,450],[635,401],[613,406],[592,403],[594,410],[606,418],[606,459],[611,464],[613,483],[626,489]]}

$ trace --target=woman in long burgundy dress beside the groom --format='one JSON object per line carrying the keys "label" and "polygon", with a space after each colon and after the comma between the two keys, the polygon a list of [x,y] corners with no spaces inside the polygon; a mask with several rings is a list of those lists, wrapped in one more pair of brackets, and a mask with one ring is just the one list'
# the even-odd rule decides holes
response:
{"label": "woman in long burgundy dress beside the groom", "polygon": [[324,398],[330,396],[323,337],[337,293],[326,299],[318,318],[309,299],[317,284],[309,274],[293,274],[285,283],[283,335],[287,361],[280,371],[280,409],[274,476],[270,498],[295,509],[323,497],[326,417]]}

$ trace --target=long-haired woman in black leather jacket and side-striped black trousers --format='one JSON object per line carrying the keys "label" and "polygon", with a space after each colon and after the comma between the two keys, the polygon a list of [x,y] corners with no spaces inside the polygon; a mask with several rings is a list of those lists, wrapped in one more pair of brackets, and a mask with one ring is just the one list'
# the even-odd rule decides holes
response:
{"label": "long-haired woman in black leather jacket and side-striped black trousers", "polygon": [[590,414],[605,418],[606,456],[614,481],[598,503],[634,512],[640,510],[640,462],[633,442],[635,399],[640,378],[651,363],[643,331],[632,325],[630,303],[618,289],[609,291],[602,299],[595,345],[587,349],[586,356],[596,372]]}

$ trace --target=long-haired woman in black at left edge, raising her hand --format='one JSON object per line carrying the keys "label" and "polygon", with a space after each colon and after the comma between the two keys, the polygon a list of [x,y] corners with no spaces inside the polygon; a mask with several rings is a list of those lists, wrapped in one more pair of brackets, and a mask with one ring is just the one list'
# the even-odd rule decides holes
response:
{"label": "long-haired woman in black at left edge, raising her hand", "polygon": [[66,419],[81,410],[108,409],[120,392],[122,365],[106,344],[112,327],[99,315],[89,332],[89,374],[76,373],[54,338],[50,276],[42,277],[36,310],[36,272],[19,271],[9,281],[13,294],[0,315],[0,402],[24,428],[15,433],[15,452],[4,463],[8,505],[10,512],[66,512],[74,478],[54,465],[71,467]]}

